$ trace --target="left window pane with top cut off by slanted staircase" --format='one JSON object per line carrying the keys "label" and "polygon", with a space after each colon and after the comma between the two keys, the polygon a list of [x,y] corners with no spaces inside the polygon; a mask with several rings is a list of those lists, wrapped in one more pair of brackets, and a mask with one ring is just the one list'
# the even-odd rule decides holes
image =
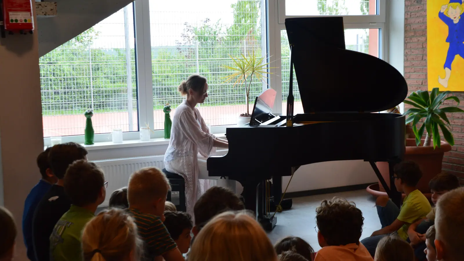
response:
{"label": "left window pane with top cut off by slanted staircase", "polygon": [[[138,131],[132,4],[39,61],[44,137]],[[129,95],[128,95],[129,93]]]}

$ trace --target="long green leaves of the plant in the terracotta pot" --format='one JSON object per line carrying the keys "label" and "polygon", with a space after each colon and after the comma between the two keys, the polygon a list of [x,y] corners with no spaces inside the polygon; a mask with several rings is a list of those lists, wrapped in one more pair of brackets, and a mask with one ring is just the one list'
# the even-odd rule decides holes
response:
{"label": "long green leaves of the plant in the terracotta pot", "polygon": [[[446,112],[464,112],[462,109],[457,106],[449,106],[440,108],[445,100],[454,100],[459,105],[459,98],[456,96],[448,96],[451,91],[439,92],[438,88],[433,88],[432,91],[416,91],[412,92],[405,100],[404,103],[410,104],[415,108],[408,109],[405,112],[406,115],[406,124],[412,122],[412,131],[416,136],[416,145],[419,146],[420,140],[424,131],[427,131],[425,135],[424,146],[430,146],[432,137],[433,137],[433,149],[438,146],[440,147],[440,132],[438,127],[443,132],[443,137],[446,142],[451,146],[454,145],[454,138],[451,134],[451,124],[446,117]],[[425,118],[422,126],[417,129],[416,125],[419,123],[420,119]]]}

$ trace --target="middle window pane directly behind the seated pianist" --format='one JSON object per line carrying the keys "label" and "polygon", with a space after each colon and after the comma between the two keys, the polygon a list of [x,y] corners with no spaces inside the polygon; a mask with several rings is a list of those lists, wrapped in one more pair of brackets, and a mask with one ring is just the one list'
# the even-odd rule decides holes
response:
{"label": "middle window pane directly behind the seated pianist", "polygon": [[[261,0],[150,0],[155,129],[164,127],[163,106],[182,102],[177,87],[193,73],[208,79],[208,98],[199,107],[205,121],[236,124],[246,112],[245,87],[224,83],[232,73],[224,65],[232,65],[230,56],[266,53],[261,8]],[[266,86],[252,83],[251,103]]]}

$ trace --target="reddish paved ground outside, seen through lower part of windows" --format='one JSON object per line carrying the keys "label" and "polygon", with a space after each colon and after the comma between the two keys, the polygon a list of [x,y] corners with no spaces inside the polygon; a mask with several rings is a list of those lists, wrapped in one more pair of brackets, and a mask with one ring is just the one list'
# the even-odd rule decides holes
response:
{"label": "reddish paved ground outside, seen through lower part of windows", "polygon": [[[283,113],[285,113],[287,104],[282,104]],[[206,123],[211,126],[230,125],[237,123],[237,117],[240,113],[246,111],[246,105],[232,106],[215,106],[215,107],[200,107],[200,113]],[[253,110],[253,105],[250,105],[250,113]],[[303,105],[301,102],[295,103],[294,113],[302,113]],[[153,111],[155,118],[155,130],[164,129],[164,112],[162,110]],[[171,118],[174,116],[175,110],[171,112]],[[132,131],[138,131],[137,112],[133,112]],[[63,115],[63,116],[44,116],[42,117],[44,126],[44,137],[53,136],[71,136],[84,135],[85,117],[82,115]],[[129,114],[127,112],[108,112],[96,113],[92,117],[92,124],[95,133],[110,133],[113,129],[129,130]],[[146,123],[141,123],[141,127],[145,127]]]}

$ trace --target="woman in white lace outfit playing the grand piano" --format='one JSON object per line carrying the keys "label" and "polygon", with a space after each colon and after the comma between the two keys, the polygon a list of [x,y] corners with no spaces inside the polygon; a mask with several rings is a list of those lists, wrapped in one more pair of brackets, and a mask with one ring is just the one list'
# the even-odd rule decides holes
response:
{"label": "woman in white lace outfit playing the grand piano", "polygon": [[213,148],[227,148],[229,144],[209,131],[200,111],[195,107],[208,97],[206,78],[193,74],[187,81],[180,83],[178,90],[187,98],[175,110],[171,139],[164,154],[164,166],[168,172],[178,175],[168,175],[168,178],[182,177],[185,180],[187,213],[193,215],[193,206],[203,192],[205,183],[199,180],[199,176],[208,176],[206,161],[198,159],[198,154],[209,157],[214,152]]}

